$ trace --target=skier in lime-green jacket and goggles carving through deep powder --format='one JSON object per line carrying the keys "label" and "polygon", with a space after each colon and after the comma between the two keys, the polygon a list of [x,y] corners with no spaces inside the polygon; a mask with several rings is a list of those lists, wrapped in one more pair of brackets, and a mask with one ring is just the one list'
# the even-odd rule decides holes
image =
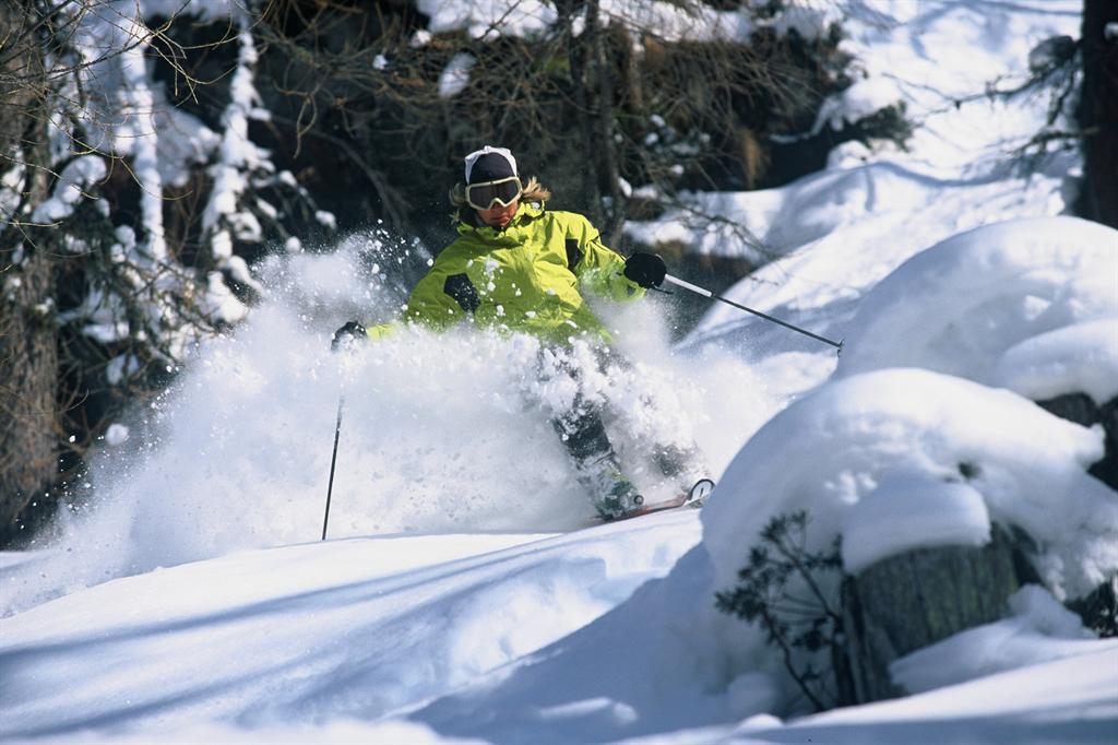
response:
{"label": "skier in lime-green jacket and goggles carving through deep powder", "polygon": [[[368,329],[350,321],[334,332],[333,347],[350,338],[381,338],[399,322],[444,330],[463,320],[480,327],[524,332],[540,339],[536,378],[572,380],[572,400],[549,409],[574,459],[579,483],[605,520],[623,518],[644,499],[625,475],[601,419],[600,403],[582,390],[579,350],[594,350],[593,365],[626,367],[612,338],[584,300],[594,293],[632,301],[663,282],[664,261],[638,252],[623,258],[607,248],[589,220],[548,210],[551,192],[534,178],[520,179],[505,148],[485,145],[465,158],[465,183],[451,192],[458,237],[435,260],[408,298],[402,318]],[[576,349],[578,347],[578,349]],[[698,474],[693,445],[656,443],[653,455],[666,478],[685,490]]]}

